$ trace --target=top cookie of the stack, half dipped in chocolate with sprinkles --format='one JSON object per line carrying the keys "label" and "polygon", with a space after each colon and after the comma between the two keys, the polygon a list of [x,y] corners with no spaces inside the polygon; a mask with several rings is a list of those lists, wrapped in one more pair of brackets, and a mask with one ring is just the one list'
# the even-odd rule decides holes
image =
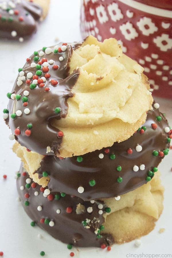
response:
{"label": "top cookie of the stack, half dipped in chocolate with sprinkles", "polygon": [[112,146],[128,139],[151,108],[142,71],[112,38],[43,47],[19,69],[6,122],[22,146],[42,155]]}

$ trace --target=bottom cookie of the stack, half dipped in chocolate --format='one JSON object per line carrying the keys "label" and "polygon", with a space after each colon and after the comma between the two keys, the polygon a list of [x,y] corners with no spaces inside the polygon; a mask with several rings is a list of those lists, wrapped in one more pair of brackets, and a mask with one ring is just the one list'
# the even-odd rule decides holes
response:
{"label": "bottom cookie of the stack, half dipped in chocolate", "polygon": [[17,174],[17,189],[26,213],[36,225],[67,244],[100,247],[131,241],[153,230],[163,210],[164,188],[158,172],[120,200],[91,202],[40,187],[22,172]]}

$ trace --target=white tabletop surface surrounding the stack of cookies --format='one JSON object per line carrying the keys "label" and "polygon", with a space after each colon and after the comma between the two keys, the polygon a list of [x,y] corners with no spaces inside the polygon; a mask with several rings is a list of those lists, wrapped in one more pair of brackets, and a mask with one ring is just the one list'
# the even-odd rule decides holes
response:
{"label": "white tabletop surface surrounding the stack of cookies", "polygon": [[[47,19],[40,24],[37,34],[30,41],[23,43],[0,42],[0,110],[7,107],[8,99],[6,93],[11,91],[18,74],[17,70],[24,65],[27,57],[43,46],[56,44],[56,37],[64,42],[81,39],[79,8],[79,0],[51,0]],[[50,24],[53,25],[54,29]],[[166,113],[166,117],[172,125],[170,117],[172,101],[158,99],[158,102],[160,103],[160,110]],[[4,258],[37,258],[41,257],[40,251],[45,251],[46,255],[44,257],[47,258],[70,257],[70,252],[75,253],[74,257],[82,258],[155,257],[153,255],[172,254],[172,150],[169,151],[169,155],[165,157],[159,166],[162,172],[162,183],[165,186],[163,214],[156,223],[155,229],[147,236],[141,238],[141,245],[139,247],[136,247],[134,241],[132,241],[123,245],[114,245],[110,252],[100,248],[84,249],[73,247],[71,250],[68,250],[66,244],[53,239],[38,226],[31,227],[30,218],[25,214],[21,203],[16,201],[17,190],[14,173],[19,169],[20,161],[10,149],[13,144],[8,139],[10,130],[2,118],[0,121],[0,251],[4,252]],[[4,174],[7,174],[6,180],[3,179]],[[165,232],[159,234],[160,228],[165,228]],[[41,234],[43,237],[38,237],[38,234]],[[136,256],[139,254],[142,256]]]}

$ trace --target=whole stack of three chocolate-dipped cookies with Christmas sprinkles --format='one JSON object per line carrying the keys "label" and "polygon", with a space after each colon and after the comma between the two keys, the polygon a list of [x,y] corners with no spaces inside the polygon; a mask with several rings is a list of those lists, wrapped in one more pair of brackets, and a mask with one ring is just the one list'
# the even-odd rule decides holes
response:
{"label": "whole stack of three chocolate-dipped cookies with Christmas sprinkles", "polygon": [[93,36],[43,47],[19,69],[4,110],[22,161],[17,189],[54,238],[104,247],[154,228],[172,131],[142,72],[115,39]]}

